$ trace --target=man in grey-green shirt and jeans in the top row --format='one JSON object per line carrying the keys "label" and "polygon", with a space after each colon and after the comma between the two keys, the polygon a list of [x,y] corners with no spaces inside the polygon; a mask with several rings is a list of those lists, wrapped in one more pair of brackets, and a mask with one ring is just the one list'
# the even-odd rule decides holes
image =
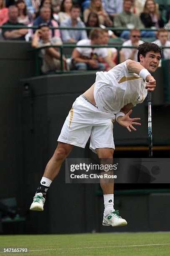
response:
{"label": "man in grey-green shirt and jeans in the top row", "polygon": [[[123,12],[119,13],[114,18],[114,26],[115,27],[123,27],[123,28],[144,28],[143,23],[141,22],[138,15],[133,14],[130,12],[130,9],[133,5],[133,0],[124,0],[123,1]],[[129,38],[129,31],[122,31],[121,35],[122,38],[128,39]]]}

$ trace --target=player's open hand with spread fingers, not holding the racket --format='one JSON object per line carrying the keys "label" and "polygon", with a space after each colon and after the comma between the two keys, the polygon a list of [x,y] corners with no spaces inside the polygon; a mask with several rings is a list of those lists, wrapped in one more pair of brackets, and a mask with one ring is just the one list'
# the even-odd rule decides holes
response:
{"label": "player's open hand with spread fingers, not holding the racket", "polygon": [[119,116],[117,118],[117,122],[122,125],[123,127],[126,127],[128,131],[131,133],[130,128],[133,131],[136,131],[135,127],[133,125],[141,125],[141,123],[136,123],[135,121],[140,120],[140,118],[130,118],[129,115],[132,113],[132,109],[124,116]]}

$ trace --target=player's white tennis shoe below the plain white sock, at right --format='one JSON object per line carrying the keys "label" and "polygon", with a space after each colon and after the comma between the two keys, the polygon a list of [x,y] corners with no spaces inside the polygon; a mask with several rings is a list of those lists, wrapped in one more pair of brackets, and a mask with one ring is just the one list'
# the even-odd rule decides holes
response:
{"label": "player's white tennis shoe below the plain white sock, at right", "polygon": [[114,210],[113,212],[110,212],[108,215],[103,215],[103,226],[125,226],[127,225],[127,221],[122,219],[122,217],[119,216],[119,211]]}

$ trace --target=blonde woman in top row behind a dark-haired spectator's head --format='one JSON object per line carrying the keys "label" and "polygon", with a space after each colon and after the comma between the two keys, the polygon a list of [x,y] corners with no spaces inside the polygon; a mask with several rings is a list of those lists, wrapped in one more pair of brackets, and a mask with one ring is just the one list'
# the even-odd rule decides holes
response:
{"label": "blonde woman in top row behind a dark-haired spectator's head", "polygon": [[90,6],[88,9],[85,9],[83,13],[83,19],[84,22],[87,22],[87,18],[89,13],[97,13],[99,17],[99,24],[105,25],[105,26],[112,26],[112,20],[110,20],[109,15],[105,12],[105,10],[102,7],[102,0],[91,0]]}

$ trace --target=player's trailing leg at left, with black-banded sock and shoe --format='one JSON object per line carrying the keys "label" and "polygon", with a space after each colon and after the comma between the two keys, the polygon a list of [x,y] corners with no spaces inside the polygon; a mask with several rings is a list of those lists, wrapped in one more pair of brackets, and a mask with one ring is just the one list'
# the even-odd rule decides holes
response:
{"label": "player's trailing leg at left, with black-banded sock and shoe", "polygon": [[46,192],[50,187],[50,184],[53,181],[53,179],[59,173],[62,162],[70,154],[72,147],[72,145],[67,143],[58,143],[52,158],[47,163],[40,185],[37,189],[37,192],[35,193],[35,196],[33,197],[33,202],[30,206],[30,210],[44,210]]}

